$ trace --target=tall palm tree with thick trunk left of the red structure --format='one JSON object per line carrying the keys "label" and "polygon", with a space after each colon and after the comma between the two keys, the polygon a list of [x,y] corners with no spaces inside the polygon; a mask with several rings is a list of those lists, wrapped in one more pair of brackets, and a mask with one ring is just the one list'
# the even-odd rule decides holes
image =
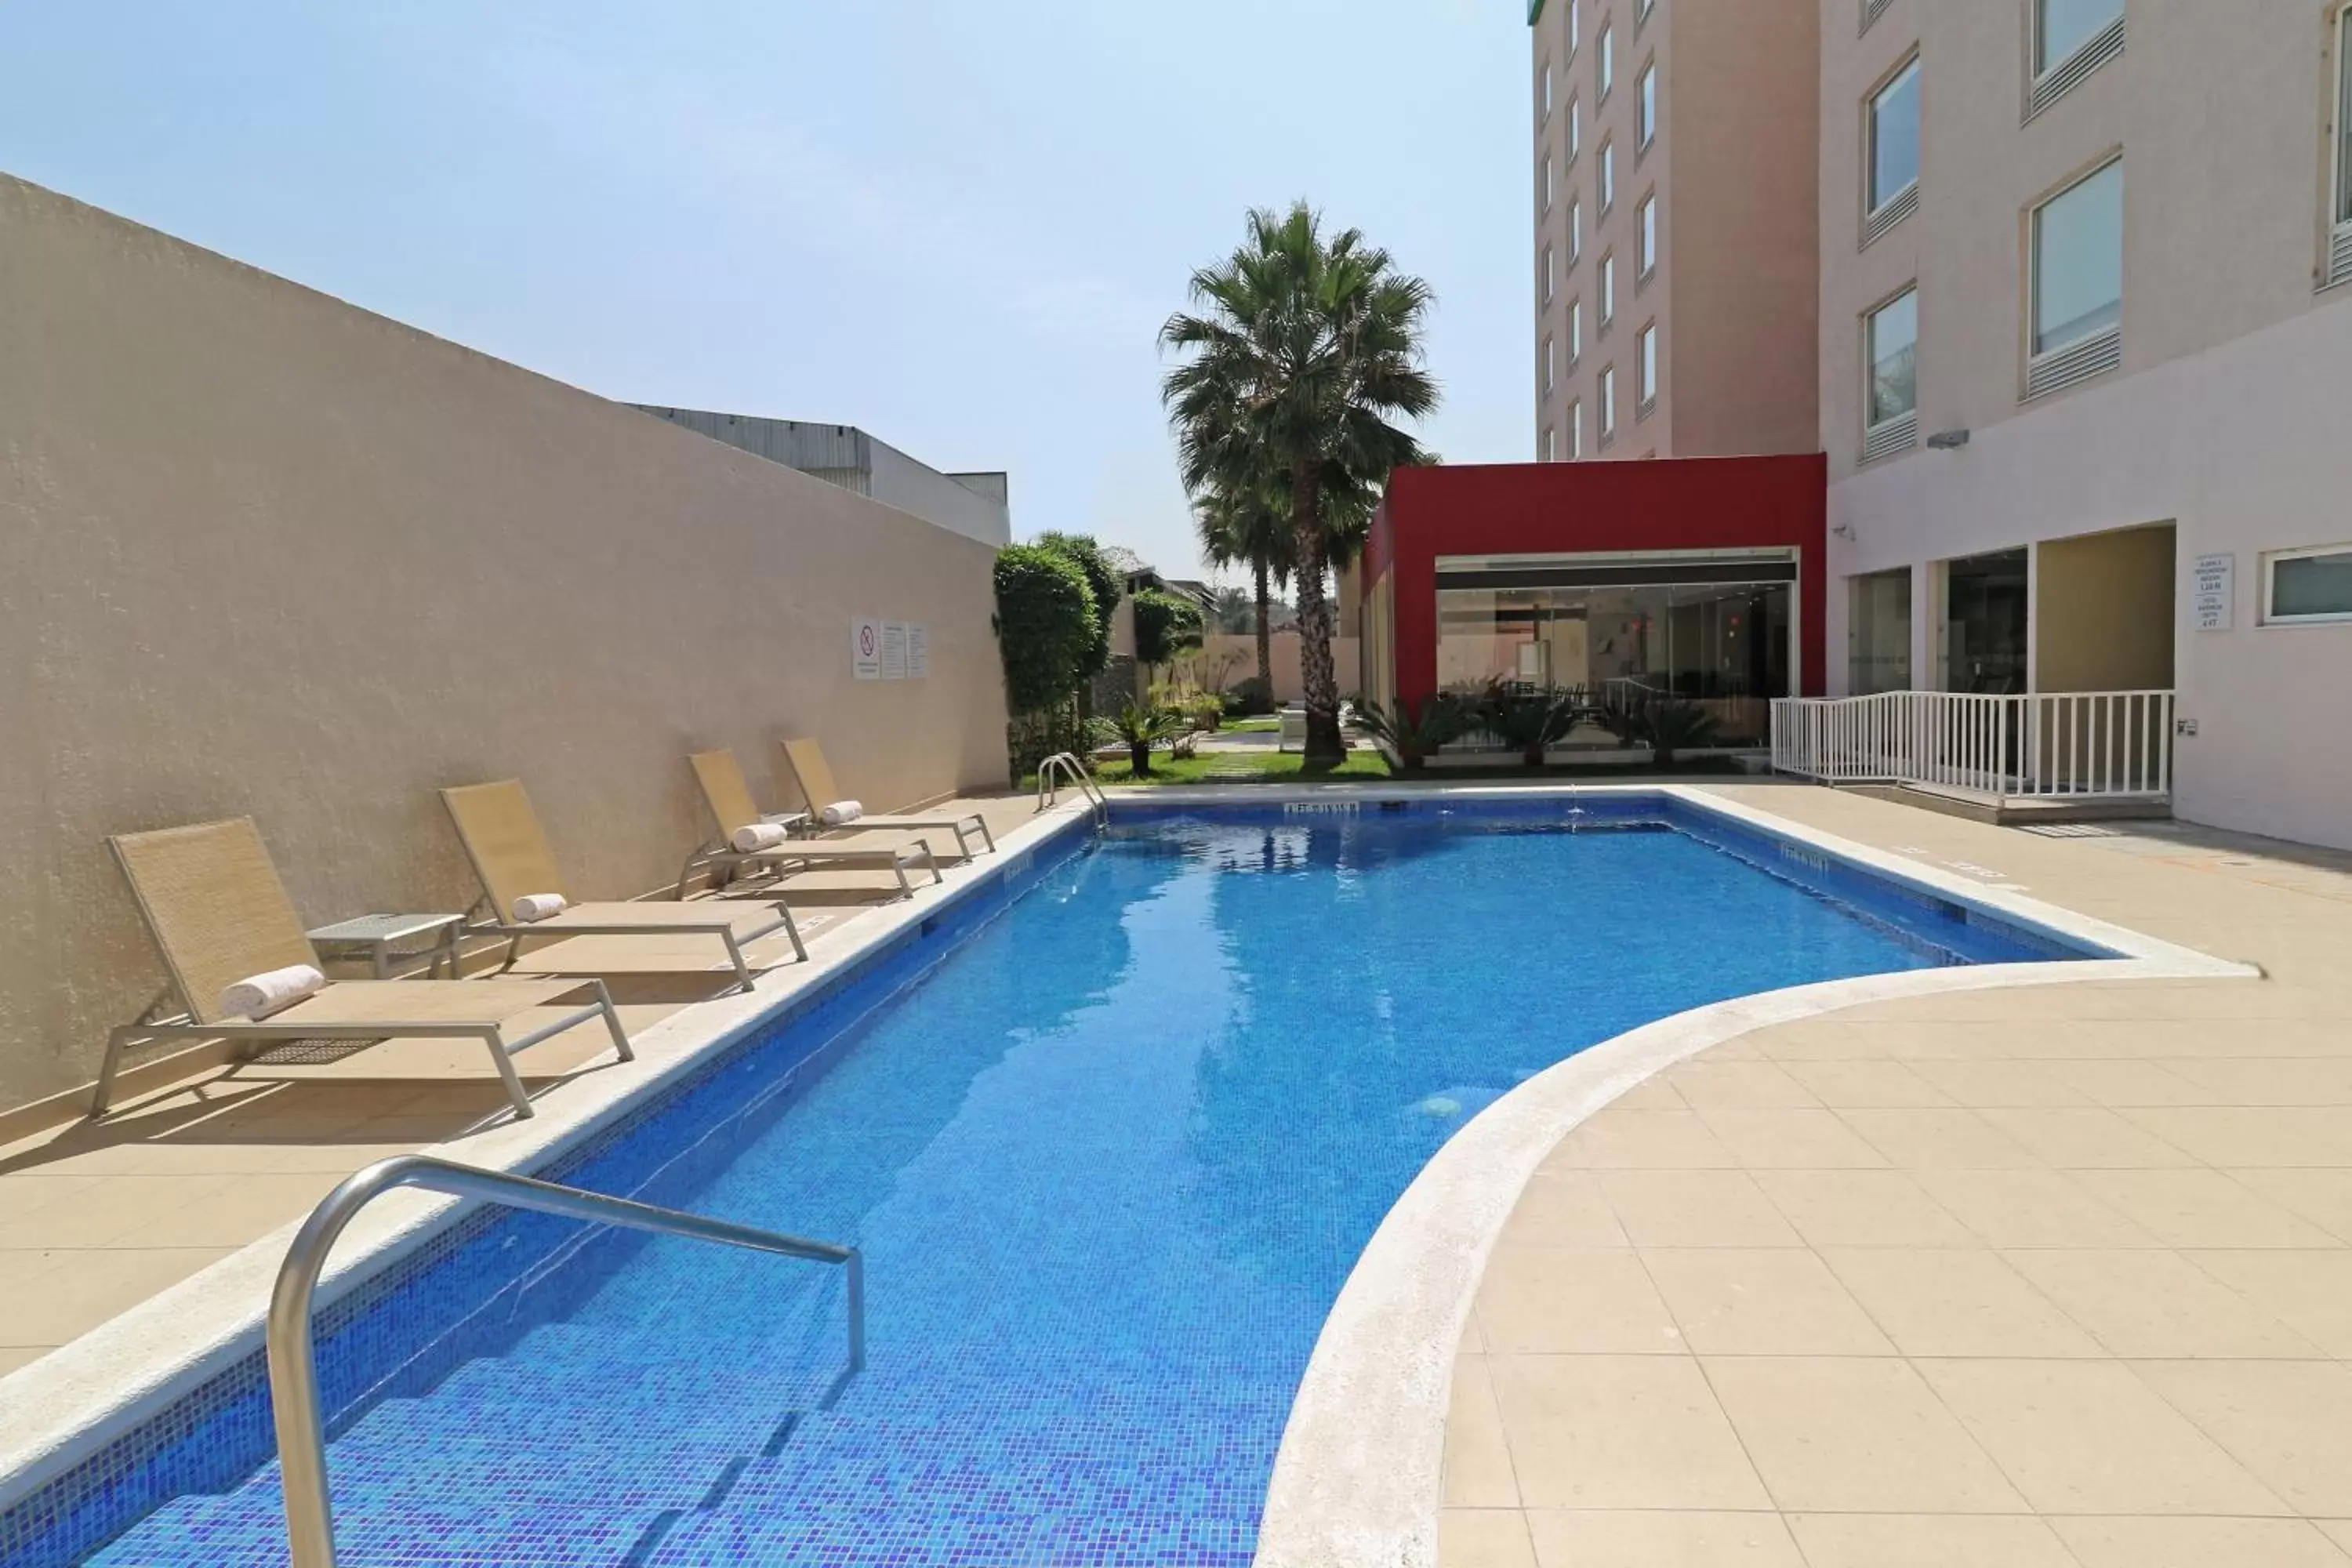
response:
{"label": "tall palm tree with thick trunk left of the red structure", "polygon": [[[1395,270],[1388,252],[1348,228],[1324,240],[1305,202],[1249,214],[1249,240],[1192,275],[1200,313],[1171,315],[1160,343],[1185,355],[1162,397],[1176,423],[1178,468],[1195,496],[1279,473],[1289,496],[1291,574],[1298,583],[1308,762],[1338,762],[1338,677],[1331,668],[1336,494],[1369,494],[1395,468],[1425,458],[1390,423],[1437,407],[1421,367],[1430,287]],[[1369,508],[1364,508],[1369,512]]]}

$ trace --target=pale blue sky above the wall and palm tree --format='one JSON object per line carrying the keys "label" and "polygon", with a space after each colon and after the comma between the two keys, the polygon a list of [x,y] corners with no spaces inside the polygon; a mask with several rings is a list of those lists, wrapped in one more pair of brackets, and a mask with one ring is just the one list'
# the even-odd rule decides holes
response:
{"label": "pale blue sky above the wall and palm tree", "polygon": [[1011,470],[1195,567],[1155,331],[1305,195],[1534,454],[1519,0],[0,0],[0,169],[607,397]]}

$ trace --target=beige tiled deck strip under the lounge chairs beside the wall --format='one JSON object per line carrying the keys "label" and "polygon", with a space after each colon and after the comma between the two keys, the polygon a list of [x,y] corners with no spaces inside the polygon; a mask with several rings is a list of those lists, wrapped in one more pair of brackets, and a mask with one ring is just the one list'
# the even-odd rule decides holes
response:
{"label": "beige tiled deck strip under the lounge chairs beside the wall", "polygon": [[[960,802],[1000,837],[1033,820],[1025,795]],[[941,839],[953,865],[953,835]],[[985,860],[985,856],[983,856]],[[830,870],[781,893],[823,954],[887,907],[889,877]],[[790,943],[746,950],[786,971]],[[553,943],[517,973],[607,976],[635,1034],[734,985],[710,938]],[[515,1058],[536,1095],[612,1065],[600,1023]],[[388,1041],[322,1065],[195,1067],[120,1095],[106,1121],[66,1121],[0,1143],[0,1375],[308,1213],[339,1180],[390,1154],[463,1140],[503,1119],[477,1041]],[[463,1147],[463,1143],[459,1143]]]}

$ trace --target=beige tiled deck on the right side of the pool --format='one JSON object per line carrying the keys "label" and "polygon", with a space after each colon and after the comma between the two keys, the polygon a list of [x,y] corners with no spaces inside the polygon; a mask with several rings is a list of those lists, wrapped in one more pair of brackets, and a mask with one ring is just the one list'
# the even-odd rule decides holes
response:
{"label": "beige tiled deck on the right side of the pool", "polygon": [[2352,856],[1726,790],[2220,957],[1778,1025],[1489,1262],[1444,1568],[2352,1566]]}

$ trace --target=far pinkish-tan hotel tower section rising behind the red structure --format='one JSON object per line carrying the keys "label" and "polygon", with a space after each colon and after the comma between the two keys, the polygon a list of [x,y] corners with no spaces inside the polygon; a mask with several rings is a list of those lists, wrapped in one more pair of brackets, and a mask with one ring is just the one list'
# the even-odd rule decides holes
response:
{"label": "far pinkish-tan hotel tower section rising behind the red structure", "polygon": [[1534,0],[1536,451],[1813,451],[1818,0]]}

